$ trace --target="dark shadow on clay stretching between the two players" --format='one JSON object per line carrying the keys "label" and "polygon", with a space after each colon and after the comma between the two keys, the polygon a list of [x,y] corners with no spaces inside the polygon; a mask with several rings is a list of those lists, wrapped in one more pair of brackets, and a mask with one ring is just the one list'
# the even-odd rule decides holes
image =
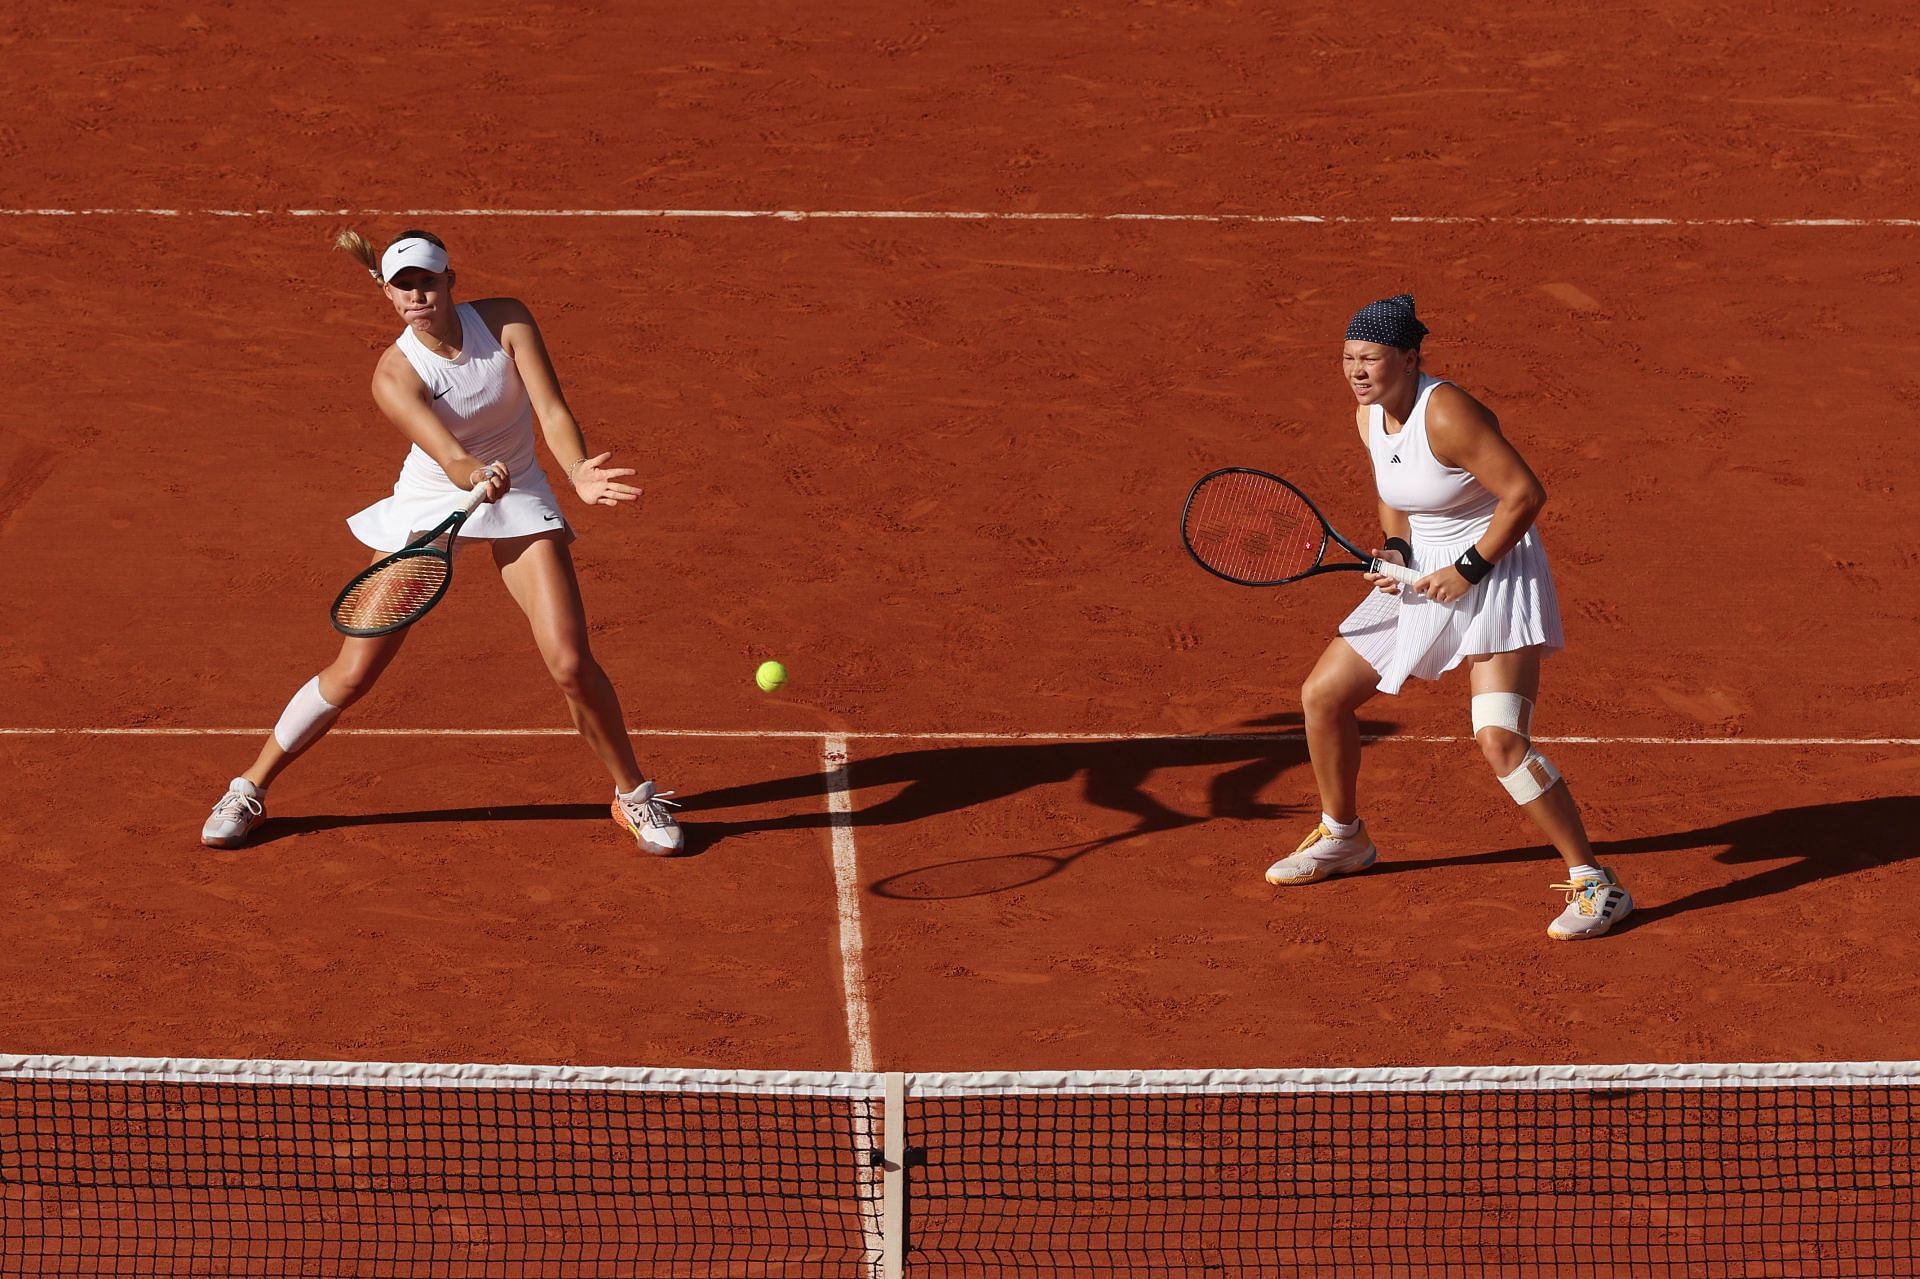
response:
{"label": "dark shadow on clay stretching between the two players", "polygon": [[[1089,808],[1131,818],[1127,826],[1050,849],[995,851],[1006,837],[981,835],[975,849],[956,849],[964,857],[889,876],[872,885],[872,891],[883,897],[972,897],[1048,878],[1087,853],[1154,832],[1198,826],[1215,818],[1260,820],[1317,810],[1313,801],[1275,805],[1261,799],[1261,791],[1283,772],[1308,762],[1304,739],[1279,736],[1298,734],[1298,712],[1269,716],[1248,728],[1246,734],[1219,737],[968,741],[874,757],[856,753],[835,782],[843,784],[849,797],[851,812],[843,820],[852,830],[922,822],[1035,787],[1073,782],[1079,782],[1079,797]],[[1369,722],[1363,724],[1363,732],[1392,732],[1392,726]],[[858,745],[856,741],[856,751]],[[1210,770],[1206,801],[1198,812],[1183,812],[1148,793],[1148,780],[1173,768]],[[728,837],[768,830],[828,828],[833,824],[833,814],[822,803],[826,782],[822,774],[797,774],[693,795],[684,814],[689,849],[695,845],[708,849]],[[864,801],[876,793],[877,799]],[[804,803],[806,810],[743,820],[708,816],[728,808],[795,803]],[[1010,862],[1010,858],[1029,860]]]}

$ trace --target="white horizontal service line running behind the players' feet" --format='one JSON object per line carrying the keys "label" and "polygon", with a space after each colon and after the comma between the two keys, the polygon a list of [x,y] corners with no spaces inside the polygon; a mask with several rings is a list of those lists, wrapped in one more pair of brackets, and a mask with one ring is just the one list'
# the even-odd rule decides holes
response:
{"label": "white horizontal service line running behind the players' feet", "polygon": [[[265,728],[0,728],[0,737],[265,737]],[[328,737],[576,737],[572,728],[334,728]],[[1302,732],[1279,734],[1048,734],[1048,732],[858,732],[824,734],[806,728],[636,728],[632,737],[789,737],[812,741],[1304,741]],[[1363,741],[1473,741],[1469,734],[1363,734]],[[1534,737],[1571,745],[1672,747],[1920,747],[1920,737]],[[845,749],[845,747],[843,747]]]}

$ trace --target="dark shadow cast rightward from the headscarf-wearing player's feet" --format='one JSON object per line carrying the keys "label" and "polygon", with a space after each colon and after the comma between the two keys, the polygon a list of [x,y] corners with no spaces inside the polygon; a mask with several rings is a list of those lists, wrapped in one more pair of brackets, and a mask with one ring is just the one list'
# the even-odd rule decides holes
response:
{"label": "dark shadow cast rightward from the headscarf-wearing player's feet", "polygon": [[[1647,853],[1676,853],[1722,843],[1726,851],[1715,853],[1713,860],[1724,866],[1755,866],[1759,870],[1674,901],[1644,901],[1640,889],[1644,876],[1632,876],[1630,866],[1622,870],[1620,878],[1628,889],[1634,889],[1634,914],[1628,916],[1626,928],[1690,910],[1734,906],[1774,893],[1791,893],[1822,880],[1912,860],[1920,857],[1920,795],[1882,795],[1853,803],[1776,808],[1774,812],[1757,812],[1663,835],[1596,839],[1594,853],[1601,862],[1613,862]],[[1388,874],[1438,870],[1463,862],[1546,862],[1557,868],[1557,858],[1559,855],[1548,845],[1530,845],[1467,857],[1382,860],[1369,876],[1382,870]]]}

